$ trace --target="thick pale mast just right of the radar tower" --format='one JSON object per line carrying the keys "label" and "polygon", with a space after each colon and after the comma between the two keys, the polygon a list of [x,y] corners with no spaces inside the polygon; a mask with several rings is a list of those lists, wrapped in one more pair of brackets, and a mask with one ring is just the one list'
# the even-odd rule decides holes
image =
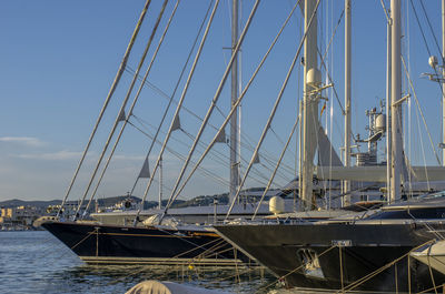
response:
{"label": "thick pale mast just right of the radar tower", "polygon": [[392,50],[390,50],[390,126],[392,126],[392,178],[390,202],[400,197],[402,174],[402,99],[400,73],[400,0],[390,0]]}

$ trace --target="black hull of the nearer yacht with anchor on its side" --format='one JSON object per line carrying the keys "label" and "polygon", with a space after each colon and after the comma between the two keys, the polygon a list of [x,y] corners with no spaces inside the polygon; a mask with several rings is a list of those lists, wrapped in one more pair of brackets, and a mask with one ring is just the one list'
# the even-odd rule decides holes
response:
{"label": "black hull of the nearer yacht with anchor on its side", "polygon": [[[409,258],[408,266],[408,258],[403,257],[435,239],[424,225],[228,225],[217,230],[277,277],[283,277],[288,287],[408,291],[408,272],[413,292],[433,287],[429,268],[414,258]],[[397,258],[400,258],[397,266],[373,275]],[[315,262],[307,263],[308,260]],[[310,267],[314,264],[318,267]],[[444,275],[435,271],[433,274],[435,285],[445,283]],[[368,275],[373,276],[356,282]]]}

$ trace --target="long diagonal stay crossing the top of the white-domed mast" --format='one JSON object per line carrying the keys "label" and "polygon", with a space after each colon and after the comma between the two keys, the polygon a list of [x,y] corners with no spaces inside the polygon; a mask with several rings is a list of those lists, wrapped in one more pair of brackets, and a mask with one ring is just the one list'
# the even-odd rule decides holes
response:
{"label": "long diagonal stay crossing the top of the white-domed mast", "polygon": [[316,12],[318,11],[319,3],[320,3],[320,0],[318,0],[317,3],[315,4],[314,12],[313,12],[313,14],[310,16],[310,20],[309,20],[309,23],[308,23],[307,29],[306,29],[306,31],[305,31],[305,34],[304,34],[303,38],[301,38],[301,41],[300,41],[300,43],[299,43],[299,45],[298,45],[298,50],[297,50],[297,52],[296,52],[296,54],[295,54],[295,57],[294,57],[294,60],[293,60],[293,62],[291,62],[291,64],[290,64],[290,68],[289,68],[288,72],[287,72],[286,79],[285,79],[285,81],[283,82],[281,89],[280,89],[280,91],[279,91],[279,93],[278,93],[278,97],[277,97],[277,99],[276,99],[276,101],[275,101],[275,104],[274,104],[274,108],[273,108],[273,110],[271,110],[271,112],[270,112],[269,119],[267,120],[267,123],[266,123],[266,125],[265,125],[265,128],[264,128],[264,130],[263,130],[263,134],[261,134],[261,136],[260,136],[260,139],[259,139],[259,141],[258,141],[258,144],[257,144],[256,148],[255,148],[255,152],[254,152],[254,154],[251,155],[250,163],[249,163],[249,165],[247,166],[247,170],[245,171],[245,174],[244,174],[244,176],[243,176],[243,180],[241,180],[241,182],[240,182],[239,185],[238,185],[237,193],[235,194],[234,200],[231,201],[230,207],[229,207],[229,210],[227,211],[226,220],[228,219],[229,214],[231,213],[231,210],[234,209],[235,202],[236,202],[236,200],[237,200],[238,196],[239,196],[239,192],[241,191],[243,185],[244,185],[244,183],[246,182],[247,175],[249,174],[251,164],[254,163],[254,160],[255,160],[255,158],[256,158],[257,154],[258,154],[258,150],[260,149],[260,146],[261,146],[261,144],[263,144],[263,141],[264,141],[264,139],[266,138],[266,134],[267,134],[267,131],[268,131],[268,129],[269,129],[269,126],[270,126],[270,123],[271,123],[271,121],[273,121],[274,118],[275,118],[276,110],[277,110],[278,104],[279,104],[279,102],[280,102],[280,100],[281,100],[281,98],[283,98],[283,94],[284,94],[284,92],[285,92],[285,89],[287,88],[287,84],[288,84],[288,81],[289,81],[289,79],[290,79],[290,75],[291,75],[291,73],[293,73],[293,71],[294,71],[294,69],[295,69],[295,64],[297,63],[297,59],[298,59],[299,52],[301,51],[304,41],[306,40],[308,30],[309,30],[309,28],[310,28],[312,24],[313,24],[314,17],[315,17]]}

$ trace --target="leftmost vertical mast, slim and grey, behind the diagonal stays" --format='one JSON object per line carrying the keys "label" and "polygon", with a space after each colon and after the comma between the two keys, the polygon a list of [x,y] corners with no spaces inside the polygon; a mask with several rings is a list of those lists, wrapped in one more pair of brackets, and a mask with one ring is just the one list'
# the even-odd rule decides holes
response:
{"label": "leftmost vertical mast, slim and grey, behind the diagonal stays", "polygon": [[[231,54],[235,53],[236,44],[238,43],[238,0],[231,2]],[[234,107],[238,99],[238,57],[235,58],[231,65],[231,102]],[[238,110],[235,110],[230,119],[230,203],[237,192],[239,184],[238,174]]]}

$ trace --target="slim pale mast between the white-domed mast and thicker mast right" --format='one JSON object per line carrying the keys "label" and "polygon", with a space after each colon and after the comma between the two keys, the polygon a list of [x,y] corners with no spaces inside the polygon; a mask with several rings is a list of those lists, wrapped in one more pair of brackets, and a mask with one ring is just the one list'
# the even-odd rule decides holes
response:
{"label": "slim pale mast between the white-domed mast and thicker mast right", "polygon": [[[345,166],[350,165],[350,0],[345,0]],[[344,182],[344,193],[350,191],[350,182]],[[350,204],[345,195],[343,205]]]}

